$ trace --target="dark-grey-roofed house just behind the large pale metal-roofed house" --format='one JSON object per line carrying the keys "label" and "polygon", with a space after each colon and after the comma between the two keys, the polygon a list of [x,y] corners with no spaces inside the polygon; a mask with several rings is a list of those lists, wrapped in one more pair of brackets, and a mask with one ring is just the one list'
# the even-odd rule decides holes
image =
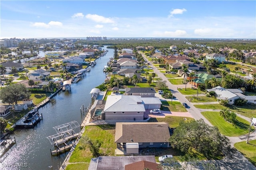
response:
{"label": "dark-grey-roofed house just behind the large pale metal-roofed house", "polygon": [[141,97],[155,97],[156,91],[153,87],[127,87],[124,95],[136,95]]}

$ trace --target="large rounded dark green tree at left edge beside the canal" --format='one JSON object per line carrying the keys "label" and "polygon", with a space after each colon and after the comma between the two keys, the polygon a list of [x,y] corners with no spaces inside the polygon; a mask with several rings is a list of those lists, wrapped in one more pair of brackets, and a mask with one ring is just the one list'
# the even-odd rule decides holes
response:
{"label": "large rounded dark green tree at left edge beside the canal", "polygon": [[1,90],[0,99],[3,103],[9,104],[17,104],[18,101],[22,101],[23,99],[28,99],[30,97],[30,93],[26,90],[25,85],[23,84],[15,84],[10,85]]}

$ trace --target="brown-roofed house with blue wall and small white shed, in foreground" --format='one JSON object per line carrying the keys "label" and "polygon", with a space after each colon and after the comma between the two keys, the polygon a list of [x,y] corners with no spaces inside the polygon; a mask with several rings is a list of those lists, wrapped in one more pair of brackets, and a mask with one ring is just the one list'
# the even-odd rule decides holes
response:
{"label": "brown-roofed house with blue wall and small white shed, in foreground", "polygon": [[164,122],[117,122],[115,143],[127,154],[138,154],[139,148],[170,147],[170,132]]}

